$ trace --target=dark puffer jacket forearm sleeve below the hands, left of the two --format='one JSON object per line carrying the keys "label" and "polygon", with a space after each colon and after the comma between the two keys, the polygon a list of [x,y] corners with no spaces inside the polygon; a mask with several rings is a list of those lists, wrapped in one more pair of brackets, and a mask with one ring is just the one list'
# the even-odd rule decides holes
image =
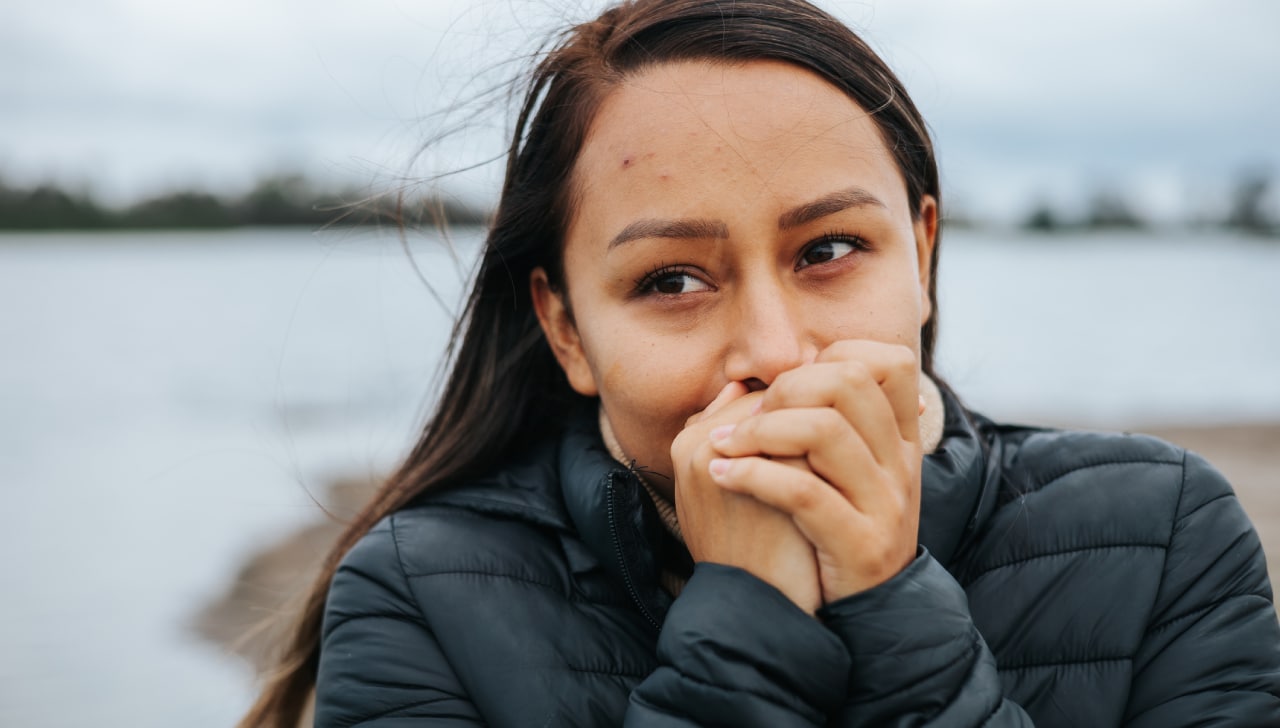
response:
{"label": "dark puffer jacket forearm sleeve below the hands, left of the two", "polygon": [[700,563],[658,638],[659,667],[625,725],[826,725],[849,654],[820,622],[750,573]]}

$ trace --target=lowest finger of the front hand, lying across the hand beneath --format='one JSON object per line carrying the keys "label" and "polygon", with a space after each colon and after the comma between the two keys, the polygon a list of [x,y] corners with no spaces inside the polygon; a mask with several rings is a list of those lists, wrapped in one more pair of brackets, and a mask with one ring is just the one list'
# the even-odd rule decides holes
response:
{"label": "lowest finger of the front hand, lying across the hand beneath", "polygon": [[709,471],[721,487],[790,516],[819,550],[845,553],[865,530],[865,516],[813,473],[759,457],[717,458]]}

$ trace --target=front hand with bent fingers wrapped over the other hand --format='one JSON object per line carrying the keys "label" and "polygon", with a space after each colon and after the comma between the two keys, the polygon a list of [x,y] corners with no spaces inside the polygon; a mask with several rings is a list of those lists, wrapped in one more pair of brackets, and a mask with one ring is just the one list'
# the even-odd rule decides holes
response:
{"label": "front hand with bent fingers wrapped over the other hand", "polygon": [[[790,516],[818,558],[823,603],[865,591],[915,557],[919,365],[892,344],[837,342],[783,372],[759,412],[709,432],[716,482]],[[804,458],[808,468],[780,458]]]}

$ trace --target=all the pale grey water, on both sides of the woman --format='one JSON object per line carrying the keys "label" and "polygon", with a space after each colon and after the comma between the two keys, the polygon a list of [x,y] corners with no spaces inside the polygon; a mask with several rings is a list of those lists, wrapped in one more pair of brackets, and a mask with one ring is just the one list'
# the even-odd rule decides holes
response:
{"label": "all the pale grey water, on both sides of the woman", "polygon": [[[941,368],[1001,418],[1280,420],[1277,274],[1224,235],[950,234]],[[251,676],[192,613],[404,452],[448,316],[352,232],[8,235],[0,307],[0,725],[233,723]]]}

